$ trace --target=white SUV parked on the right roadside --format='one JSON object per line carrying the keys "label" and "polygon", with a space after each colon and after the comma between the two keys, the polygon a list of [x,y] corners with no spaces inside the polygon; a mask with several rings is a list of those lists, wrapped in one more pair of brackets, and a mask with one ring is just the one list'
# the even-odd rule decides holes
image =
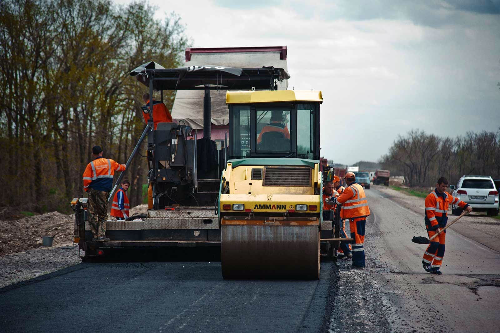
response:
{"label": "white SUV parked on the right roadside", "polygon": [[[472,206],[474,211],[486,211],[488,216],[498,215],[498,191],[490,176],[463,175],[456,185],[449,186],[452,195]],[[459,215],[462,208],[451,205],[454,215]]]}

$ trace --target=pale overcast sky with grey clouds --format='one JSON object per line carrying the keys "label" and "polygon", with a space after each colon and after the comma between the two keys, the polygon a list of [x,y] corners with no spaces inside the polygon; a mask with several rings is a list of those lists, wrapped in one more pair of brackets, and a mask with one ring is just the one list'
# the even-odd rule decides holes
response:
{"label": "pale overcast sky with grey clouds", "polygon": [[500,0],[149,3],[180,15],[192,47],[286,45],[288,88],[322,90],[334,162],[377,161],[412,128],[500,126]]}

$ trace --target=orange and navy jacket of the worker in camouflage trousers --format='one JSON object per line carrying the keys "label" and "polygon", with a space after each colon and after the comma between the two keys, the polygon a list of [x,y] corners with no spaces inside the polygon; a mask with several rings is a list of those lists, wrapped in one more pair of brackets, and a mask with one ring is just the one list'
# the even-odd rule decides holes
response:
{"label": "orange and navy jacket of the worker in camouflage trousers", "polygon": [[87,164],[83,171],[83,189],[88,187],[109,192],[113,186],[114,171],[124,171],[125,167],[110,158],[97,157]]}

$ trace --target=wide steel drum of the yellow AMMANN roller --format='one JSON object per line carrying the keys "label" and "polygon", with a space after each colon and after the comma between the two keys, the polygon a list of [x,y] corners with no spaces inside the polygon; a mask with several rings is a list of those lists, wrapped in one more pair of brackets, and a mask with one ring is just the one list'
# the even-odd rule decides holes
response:
{"label": "wide steel drum of the yellow AMMANN roller", "polygon": [[318,279],[318,224],[317,220],[223,220],[223,277]]}

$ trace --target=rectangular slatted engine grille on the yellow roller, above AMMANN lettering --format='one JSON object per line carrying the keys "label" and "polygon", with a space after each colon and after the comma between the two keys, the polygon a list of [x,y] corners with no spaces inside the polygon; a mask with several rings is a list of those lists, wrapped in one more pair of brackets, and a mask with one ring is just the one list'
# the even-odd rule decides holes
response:
{"label": "rectangular slatted engine grille on the yellow roller, above AMMANN lettering", "polygon": [[307,166],[266,166],[262,186],[310,186],[311,169]]}

